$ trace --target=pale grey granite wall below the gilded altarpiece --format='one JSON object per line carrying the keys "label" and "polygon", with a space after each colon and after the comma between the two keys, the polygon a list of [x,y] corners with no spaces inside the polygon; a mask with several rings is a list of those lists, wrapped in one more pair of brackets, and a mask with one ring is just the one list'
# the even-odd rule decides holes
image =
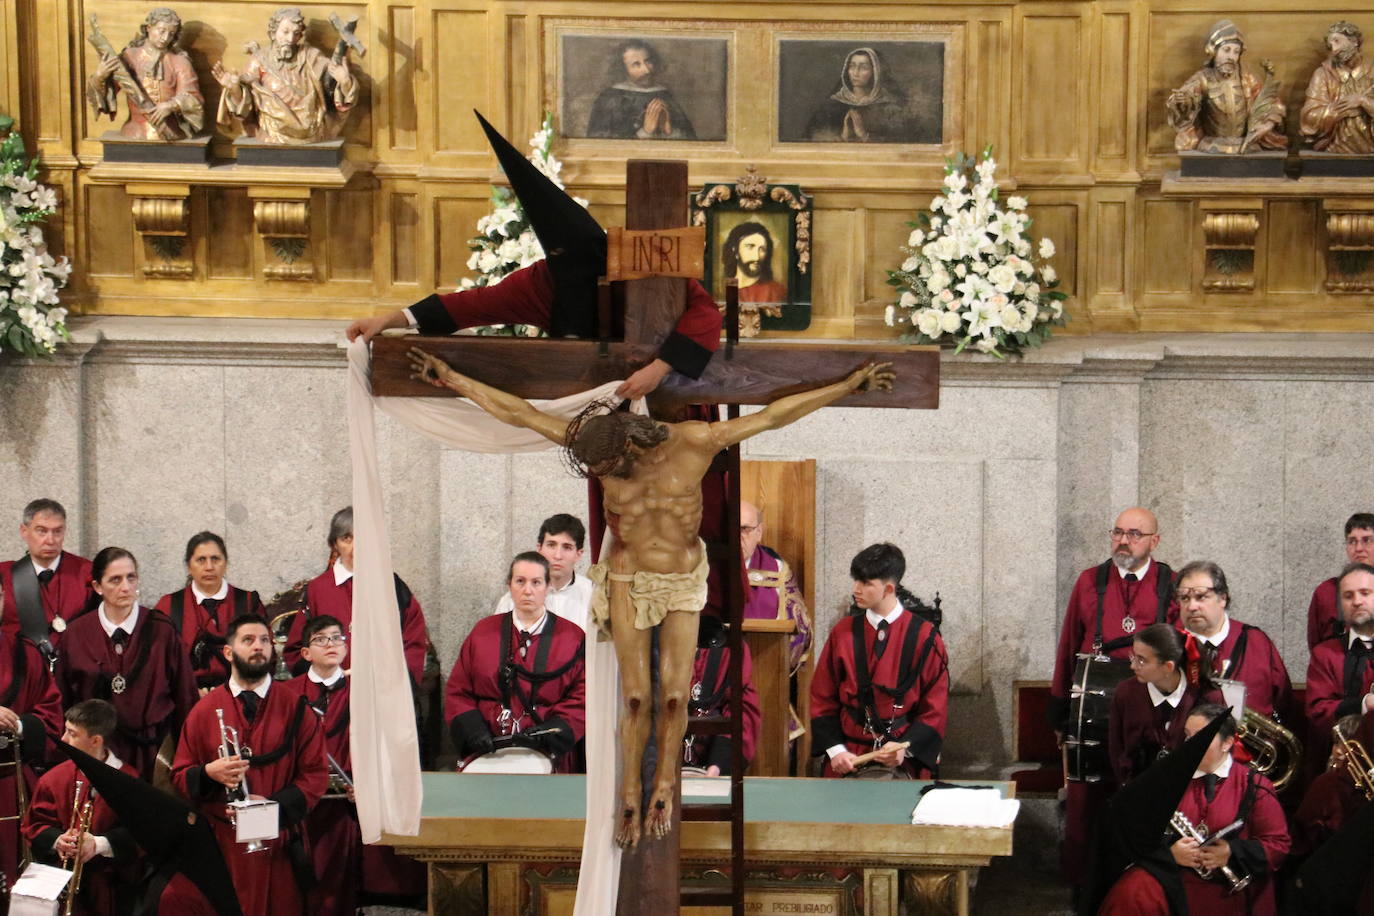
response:
{"label": "pale grey granite wall below the gilded altarpiece", "polygon": [[[341,324],[95,319],[54,363],[0,361],[0,553],[36,496],[69,547],[120,544],[151,604],[185,538],[225,536],[231,580],[265,596],[320,571],[349,501]],[[907,585],[938,591],[954,672],[948,768],[1010,759],[1011,683],[1048,678],[1079,570],[1125,505],[1160,515],[1158,556],[1213,559],[1242,619],[1303,680],[1312,586],[1340,526],[1374,507],[1374,338],[1065,338],[1021,363],[948,357],[938,411],[827,409],[749,442],[818,461],[816,629],[848,606],[849,558],[890,540]],[[548,514],[585,515],[552,453],[467,455],[378,415],[397,571],[445,670]]]}

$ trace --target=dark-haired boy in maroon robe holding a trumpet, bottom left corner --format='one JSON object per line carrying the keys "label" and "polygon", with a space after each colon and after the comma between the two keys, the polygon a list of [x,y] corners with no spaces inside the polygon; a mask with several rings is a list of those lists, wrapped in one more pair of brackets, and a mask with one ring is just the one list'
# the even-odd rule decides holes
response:
{"label": "dark-haired boy in maroon robe holding a trumpet, bottom left corner", "polygon": [[[82,700],[67,710],[62,743],[85,751],[110,766],[137,776],[137,770],[106,748],[114,735],[118,715],[104,700]],[[120,827],[118,817],[74,762],[63,761],[38,779],[23,818],[23,835],[33,850],[34,861],[47,865],[70,865],[77,853],[77,829],[73,812],[77,810],[77,783],[81,783],[81,803],[91,802],[91,823],[81,843],[81,890],[76,913],[106,916],[132,913],[133,880],[131,865],[139,858],[139,849],[129,832]]]}

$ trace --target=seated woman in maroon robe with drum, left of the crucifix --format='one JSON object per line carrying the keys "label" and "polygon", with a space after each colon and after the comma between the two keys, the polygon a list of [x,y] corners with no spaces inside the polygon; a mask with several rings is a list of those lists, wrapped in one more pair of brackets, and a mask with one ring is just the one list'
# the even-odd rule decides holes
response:
{"label": "seated woman in maroon robe with drum, left of the crucifix", "polygon": [[[478,621],[448,676],[444,718],[459,769],[502,737],[548,754],[554,772],[572,772],[587,720],[583,630],[544,607],[548,560],[540,553],[517,555],[507,582],[514,610]],[[536,737],[519,737],[532,729]]]}

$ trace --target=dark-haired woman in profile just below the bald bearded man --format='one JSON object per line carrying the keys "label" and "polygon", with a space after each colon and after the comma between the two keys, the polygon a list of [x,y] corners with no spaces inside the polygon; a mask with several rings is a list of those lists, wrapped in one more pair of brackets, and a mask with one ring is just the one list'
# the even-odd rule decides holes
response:
{"label": "dark-haired woman in profile just below the bald bearded man", "polygon": [[1135,678],[1116,688],[1107,718],[1107,754],[1118,784],[1143,772],[1161,751],[1178,748],[1193,707],[1204,698],[1217,699],[1210,681],[1189,683],[1183,647],[1183,637],[1168,623],[1146,626],[1131,643]]}

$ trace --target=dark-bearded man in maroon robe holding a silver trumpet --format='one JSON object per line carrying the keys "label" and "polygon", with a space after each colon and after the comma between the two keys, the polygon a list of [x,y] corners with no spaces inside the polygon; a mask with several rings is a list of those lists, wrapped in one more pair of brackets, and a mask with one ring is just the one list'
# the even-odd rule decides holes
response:
{"label": "dark-bearded man in maroon robe holding a silver trumpet", "polygon": [[[295,869],[304,872],[306,883],[309,876],[301,823],[328,784],[324,729],[300,691],[273,687],[272,636],[265,619],[254,614],[236,618],[225,639],[232,673],[187,717],[172,781],[209,818],[245,916],[295,916],[304,912]],[[224,725],[238,731],[239,744],[251,755],[221,757],[221,711]],[[246,851],[228,818],[231,792],[245,790],[251,799],[279,805],[280,832],[262,851]],[[168,884],[162,905],[172,909],[164,912],[180,912],[179,891],[179,882]]]}

